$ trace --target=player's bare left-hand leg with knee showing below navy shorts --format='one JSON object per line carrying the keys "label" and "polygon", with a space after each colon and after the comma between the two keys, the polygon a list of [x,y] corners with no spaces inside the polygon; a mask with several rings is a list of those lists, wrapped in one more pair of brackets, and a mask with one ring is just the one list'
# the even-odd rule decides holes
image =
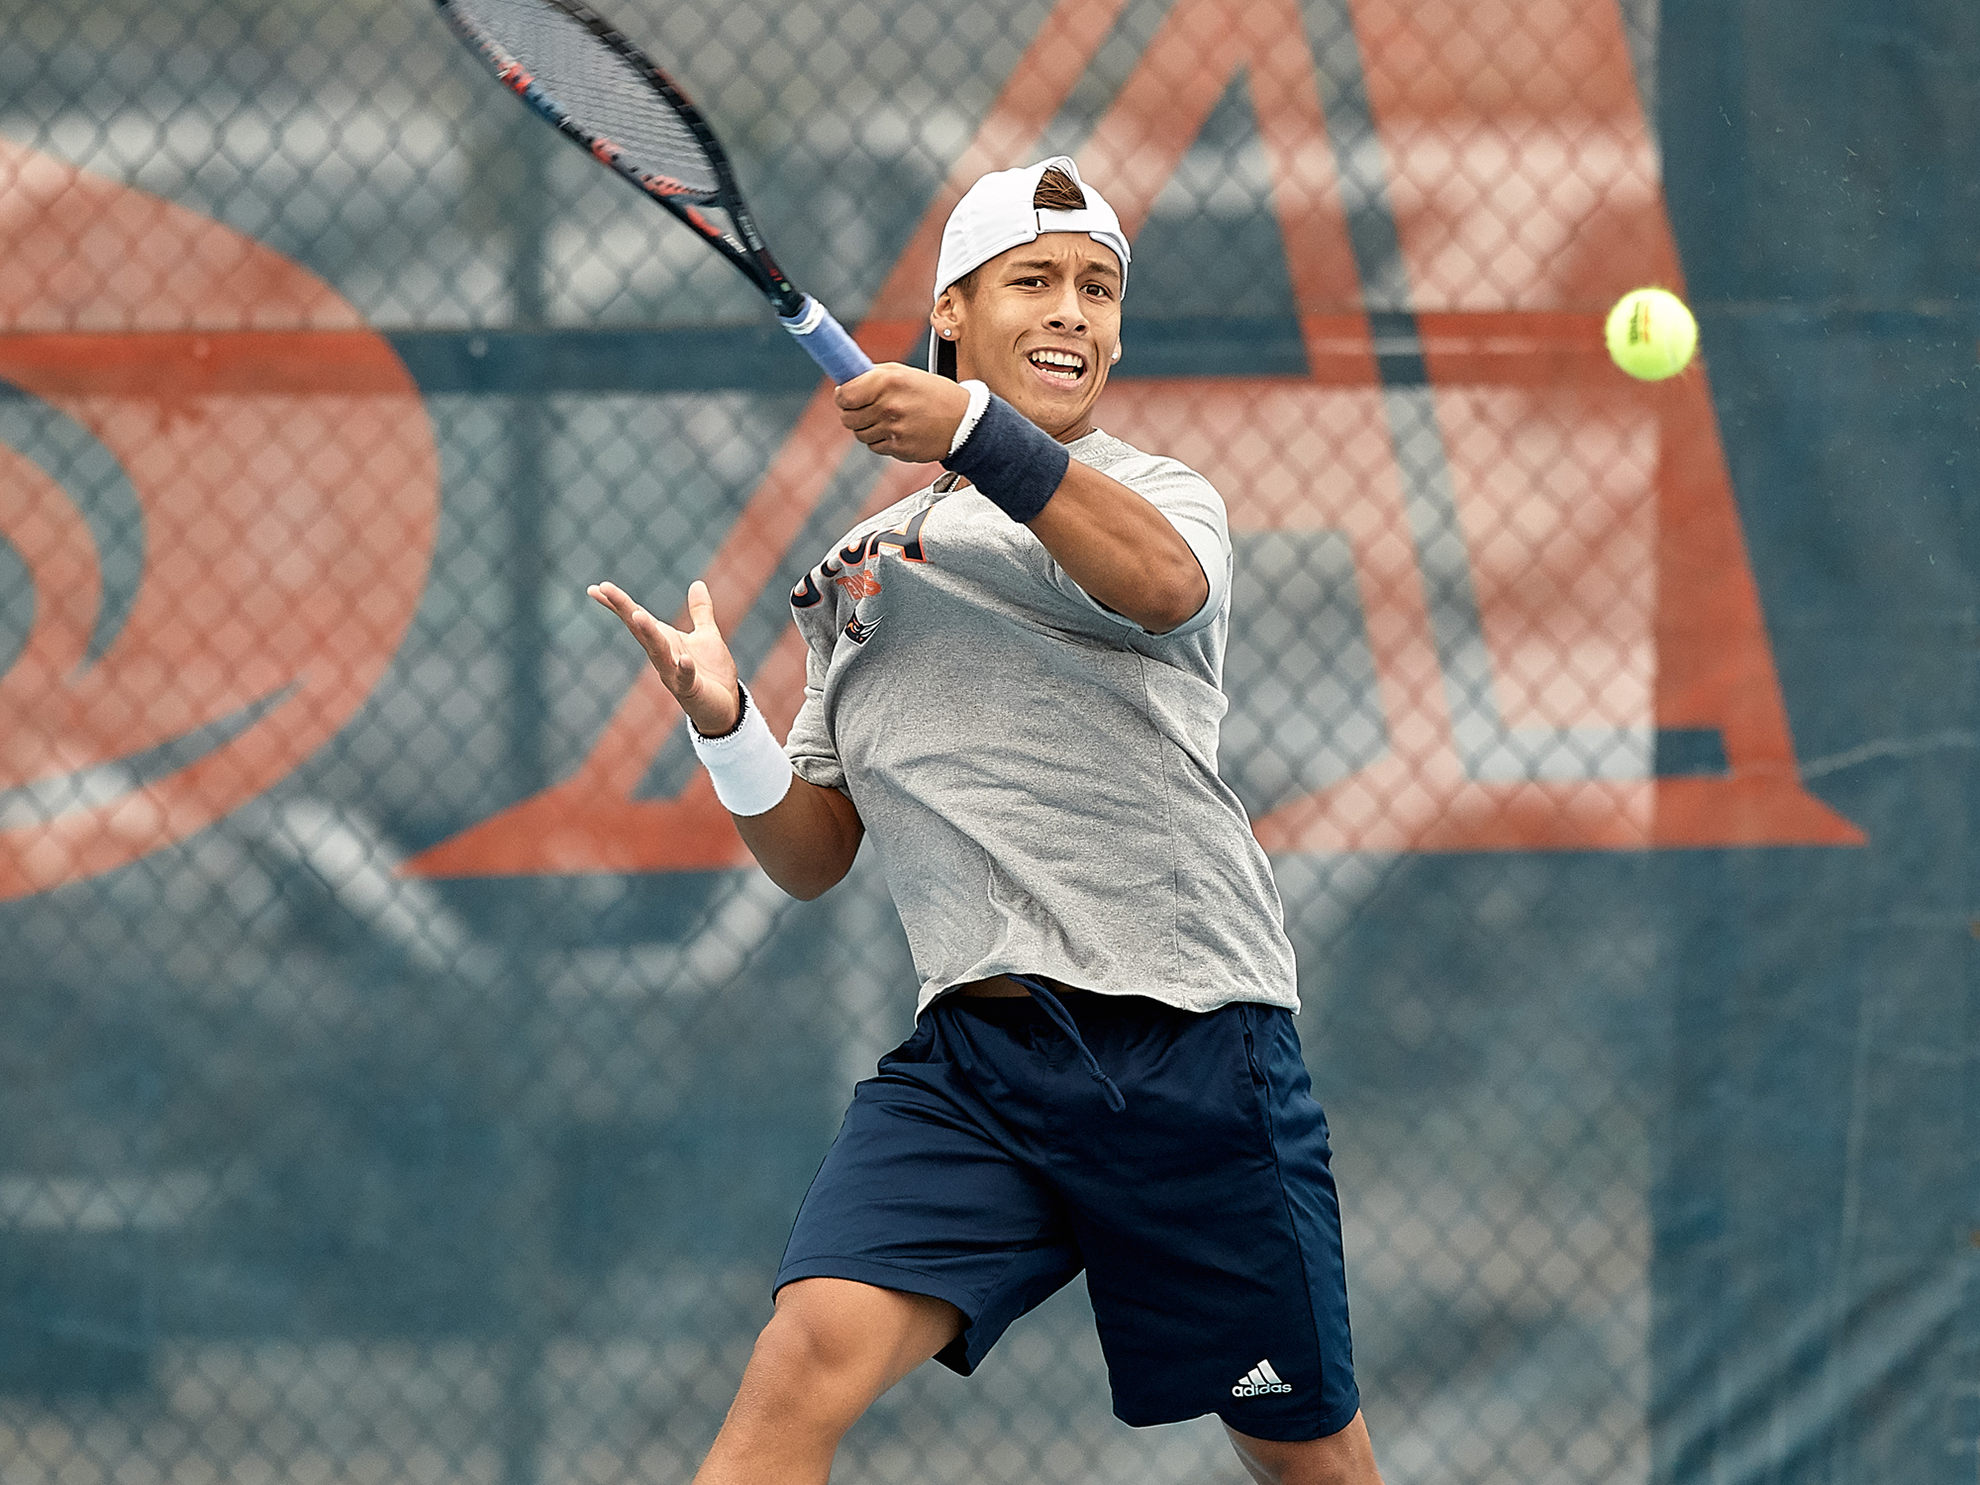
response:
{"label": "player's bare left-hand leg with knee showing below navy shorts", "polygon": [[960,1333],[946,1299],[851,1279],[784,1285],[695,1485],[826,1485],[859,1414]]}

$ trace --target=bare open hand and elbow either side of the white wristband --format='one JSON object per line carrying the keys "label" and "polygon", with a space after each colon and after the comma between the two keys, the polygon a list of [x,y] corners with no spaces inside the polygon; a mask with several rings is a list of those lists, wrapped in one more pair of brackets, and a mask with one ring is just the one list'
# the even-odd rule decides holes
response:
{"label": "bare open hand and elbow either side of the white wristband", "polygon": [[[661,683],[687,713],[689,727],[717,739],[735,731],[742,693],[735,657],[715,626],[715,602],[707,584],[695,582],[687,590],[687,616],[693,622],[687,632],[661,624],[616,584],[596,582],[588,592],[618,614],[640,642]],[[851,871],[865,836],[849,798],[804,778],[790,778],[790,788],[768,810],[746,816],[731,812],[731,818],[764,875],[804,901],[838,885]]]}

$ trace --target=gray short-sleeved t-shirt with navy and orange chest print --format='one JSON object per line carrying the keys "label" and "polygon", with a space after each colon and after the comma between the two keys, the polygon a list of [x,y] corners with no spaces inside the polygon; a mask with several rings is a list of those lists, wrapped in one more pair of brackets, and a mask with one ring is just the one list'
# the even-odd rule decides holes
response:
{"label": "gray short-sleeved t-shirt with navy and orange chest print", "polygon": [[786,750],[865,822],[935,996],[992,974],[1184,1010],[1299,1006],[1271,865],[1218,778],[1230,529],[1210,481],[1091,432],[1067,451],[1160,509],[1210,576],[1148,634],[952,477],[861,521],[792,592]]}

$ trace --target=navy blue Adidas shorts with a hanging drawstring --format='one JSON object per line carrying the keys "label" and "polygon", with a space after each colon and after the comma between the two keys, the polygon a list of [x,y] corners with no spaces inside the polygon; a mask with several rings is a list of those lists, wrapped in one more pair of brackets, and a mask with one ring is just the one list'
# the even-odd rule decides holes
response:
{"label": "navy blue Adidas shorts with a hanging drawstring", "polygon": [[939,1360],[966,1376],[1085,1269],[1125,1424],[1346,1428],[1360,1400],[1340,1208],[1291,1014],[1063,1004],[1125,1111],[1036,1000],[937,1000],[853,1091],[778,1287],[946,1299],[968,1327]]}

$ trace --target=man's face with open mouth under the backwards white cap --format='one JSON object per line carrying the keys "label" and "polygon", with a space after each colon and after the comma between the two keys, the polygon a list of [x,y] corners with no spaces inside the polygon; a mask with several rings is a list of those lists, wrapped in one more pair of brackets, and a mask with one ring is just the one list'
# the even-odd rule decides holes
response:
{"label": "man's face with open mouth under the backwards white cap", "polygon": [[944,289],[931,321],[954,331],[958,380],[1067,442],[1091,432],[1121,345],[1121,259],[1085,232],[1047,232],[976,269],[972,289]]}

